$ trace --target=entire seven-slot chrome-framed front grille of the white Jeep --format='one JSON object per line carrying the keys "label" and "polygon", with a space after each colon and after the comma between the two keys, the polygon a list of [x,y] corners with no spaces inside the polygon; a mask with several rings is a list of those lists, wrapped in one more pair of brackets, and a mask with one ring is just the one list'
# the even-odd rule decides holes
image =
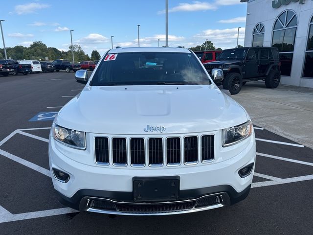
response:
{"label": "entire seven-slot chrome-framed front grille of the white Jeep", "polygon": [[[99,165],[162,167],[205,164],[214,160],[214,135],[181,137],[94,138],[95,162]],[[146,164],[147,163],[147,164]]]}

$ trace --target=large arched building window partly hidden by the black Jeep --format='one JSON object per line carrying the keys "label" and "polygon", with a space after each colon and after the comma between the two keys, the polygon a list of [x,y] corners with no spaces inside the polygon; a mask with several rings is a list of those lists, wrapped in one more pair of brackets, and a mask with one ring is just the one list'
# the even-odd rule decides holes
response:
{"label": "large arched building window partly hidden by the black Jeep", "polygon": [[291,10],[282,12],[276,19],[273,28],[272,47],[277,47],[281,63],[281,74],[290,76],[298,20]]}

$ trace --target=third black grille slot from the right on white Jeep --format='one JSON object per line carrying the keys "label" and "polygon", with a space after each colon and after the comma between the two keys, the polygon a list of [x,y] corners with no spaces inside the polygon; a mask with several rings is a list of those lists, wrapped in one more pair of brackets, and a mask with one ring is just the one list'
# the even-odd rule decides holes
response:
{"label": "third black grille slot from the right on white Jeep", "polygon": [[180,138],[166,139],[166,163],[169,165],[180,164]]}

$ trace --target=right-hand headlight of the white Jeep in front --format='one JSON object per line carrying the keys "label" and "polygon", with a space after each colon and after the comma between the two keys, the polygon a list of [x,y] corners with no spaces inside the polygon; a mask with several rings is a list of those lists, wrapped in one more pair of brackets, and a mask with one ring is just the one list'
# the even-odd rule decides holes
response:
{"label": "right-hand headlight of the white Jeep in front", "polygon": [[223,129],[222,144],[223,147],[233,145],[245,140],[252,134],[252,122],[248,120],[246,123]]}

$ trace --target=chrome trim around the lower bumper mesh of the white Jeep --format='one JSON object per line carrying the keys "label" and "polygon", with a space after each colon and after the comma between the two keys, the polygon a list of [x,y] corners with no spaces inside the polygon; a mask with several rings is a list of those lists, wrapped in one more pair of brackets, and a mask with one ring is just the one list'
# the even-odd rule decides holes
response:
{"label": "chrome trim around the lower bumper mesh of the white Jeep", "polygon": [[[197,201],[200,199],[203,199],[205,197],[212,197],[212,196],[220,196],[221,202],[218,204],[210,205],[210,206],[204,206],[200,208],[196,208]],[[89,207],[92,200],[102,200],[107,201],[115,204],[116,211],[111,210],[104,210],[104,209],[95,209]],[[186,209],[181,211],[168,211],[168,212],[152,212],[152,213],[138,213],[138,212],[123,212],[118,211],[118,207],[116,207],[116,204],[128,204],[128,205],[160,205],[160,204],[175,204],[175,203],[184,203],[184,202],[195,202],[195,205],[192,209]],[[98,198],[98,197],[84,197],[82,198],[80,202],[80,211],[89,211],[89,212],[96,212],[96,213],[104,213],[104,214],[117,214],[117,215],[173,215],[173,214],[183,214],[183,213],[191,213],[191,212],[197,212],[197,211],[206,211],[216,208],[221,208],[224,206],[230,205],[230,199],[226,192],[220,192],[220,193],[214,193],[214,194],[208,194],[205,196],[201,196],[196,199],[190,199],[190,200],[181,200],[181,201],[173,201],[173,202],[152,202],[152,203],[145,203],[145,202],[119,202],[119,201],[113,201],[111,199],[105,199],[105,198]]]}

